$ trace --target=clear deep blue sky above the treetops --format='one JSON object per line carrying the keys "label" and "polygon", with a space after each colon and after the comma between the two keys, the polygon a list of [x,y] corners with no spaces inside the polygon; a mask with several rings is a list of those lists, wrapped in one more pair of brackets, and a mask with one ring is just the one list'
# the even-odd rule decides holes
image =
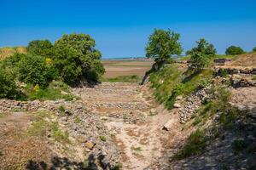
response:
{"label": "clear deep blue sky above the treetops", "polygon": [[104,58],[144,56],[154,28],[177,31],[184,50],[205,37],[223,54],[256,46],[255,0],[1,0],[0,47],[87,33]]}

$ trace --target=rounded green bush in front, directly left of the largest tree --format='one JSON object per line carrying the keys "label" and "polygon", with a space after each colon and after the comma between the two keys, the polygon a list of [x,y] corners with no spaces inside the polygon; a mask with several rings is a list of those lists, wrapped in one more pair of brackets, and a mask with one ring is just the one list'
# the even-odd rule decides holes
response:
{"label": "rounded green bush in front, directly left of the largest tree", "polygon": [[38,84],[40,87],[47,87],[57,72],[52,65],[45,62],[44,57],[27,54],[22,57],[17,65],[19,79],[22,82]]}

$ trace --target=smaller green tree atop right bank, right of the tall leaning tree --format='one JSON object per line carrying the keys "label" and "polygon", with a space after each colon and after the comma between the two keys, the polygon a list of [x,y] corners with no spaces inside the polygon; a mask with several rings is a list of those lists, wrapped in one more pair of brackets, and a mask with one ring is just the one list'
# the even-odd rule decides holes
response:
{"label": "smaller green tree atop right bank, right of the tall leaning tree", "polygon": [[187,54],[191,56],[189,68],[191,70],[201,71],[210,62],[210,59],[217,53],[211,43],[208,43],[204,38],[201,38],[197,43],[196,48],[192,48]]}

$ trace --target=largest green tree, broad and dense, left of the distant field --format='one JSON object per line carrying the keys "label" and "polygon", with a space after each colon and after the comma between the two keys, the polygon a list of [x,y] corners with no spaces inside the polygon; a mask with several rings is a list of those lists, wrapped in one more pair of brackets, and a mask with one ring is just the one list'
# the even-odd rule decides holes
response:
{"label": "largest green tree, broad and dense, left of the distant field", "polygon": [[86,34],[64,35],[54,45],[54,65],[64,82],[97,82],[105,72],[102,54],[95,48],[96,42]]}

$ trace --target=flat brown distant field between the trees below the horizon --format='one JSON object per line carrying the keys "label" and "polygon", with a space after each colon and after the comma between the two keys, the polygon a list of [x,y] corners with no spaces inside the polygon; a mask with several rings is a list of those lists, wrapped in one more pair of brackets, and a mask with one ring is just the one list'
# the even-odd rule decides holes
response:
{"label": "flat brown distant field between the trees below the horizon", "polygon": [[103,60],[106,69],[104,78],[137,75],[142,77],[153,65],[153,60]]}

